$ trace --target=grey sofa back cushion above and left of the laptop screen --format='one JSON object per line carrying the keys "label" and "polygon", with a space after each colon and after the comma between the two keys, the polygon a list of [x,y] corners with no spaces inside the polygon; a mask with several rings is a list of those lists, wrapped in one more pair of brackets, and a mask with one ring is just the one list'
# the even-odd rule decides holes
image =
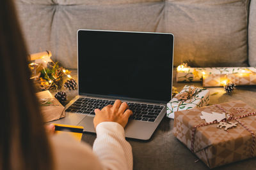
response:
{"label": "grey sofa back cushion above and left of the laptop screen", "polygon": [[[140,1],[145,2],[145,0]],[[60,61],[67,68],[77,67],[76,33],[78,29],[148,32],[163,32],[164,30],[163,1],[151,0],[138,3],[139,0],[107,0],[102,1],[102,3],[95,3],[94,0],[56,0],[54,1],[55,4],[52,4],[52,2],[41,4],[37,0],[31,4],[31,0],[20,0],[20,19],[24,24],[29,52],[40,51],[38,49],[40,45],[36,41],[37,38],[51,36],[50,41],[41,42],[51,46],[42,48],[42,50],[51,50],[52,59]],[[28,6],[34,6],[35,9],[29,8],[27,10]],[[52,9],[51,12],[47,13],[47,18],[44,18],[51,24],[47,30],[40,29],[44,15],[35,13],[38,8],[41,8],[42,11],[44,11],[43,8]],[[37,20],[29,17],[32,15]],[[40,35],[38,31],[41,33]]]}

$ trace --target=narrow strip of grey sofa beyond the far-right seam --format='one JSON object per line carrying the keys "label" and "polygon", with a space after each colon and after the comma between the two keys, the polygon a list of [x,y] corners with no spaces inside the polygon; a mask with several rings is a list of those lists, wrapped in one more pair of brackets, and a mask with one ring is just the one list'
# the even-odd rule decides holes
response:
{"label": "narrow strip of grey sofa beyond the far-right seam", "polygon": [[256,1],[250,3],[249,25],[248,25],[248,55],[249,64],[256,67]]}

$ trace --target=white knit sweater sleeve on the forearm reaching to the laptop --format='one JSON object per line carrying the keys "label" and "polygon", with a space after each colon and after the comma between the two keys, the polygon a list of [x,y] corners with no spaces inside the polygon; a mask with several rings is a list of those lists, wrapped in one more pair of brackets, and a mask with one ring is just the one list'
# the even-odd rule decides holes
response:
{"label": "white knit sweater sleeve on the forearm reaching to the laptop", "polygon": [[93,152],[104,169],[132,169],[132,148],[125,140],[124,128],[116,122],[102,122],[96,127]]}

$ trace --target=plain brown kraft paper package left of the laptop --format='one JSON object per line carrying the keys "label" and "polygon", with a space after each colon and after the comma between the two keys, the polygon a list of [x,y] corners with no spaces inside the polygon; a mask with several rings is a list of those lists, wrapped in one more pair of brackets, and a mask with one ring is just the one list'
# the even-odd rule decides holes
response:
{"label": "plain brown kraft paper package left of the laptop", "polygon": [[36,93],[38,101],[41,105],[41,112],[44,117],[44,122],[58,120],[65,117],[65,108],[61,103],[52,96],[49,90]]}

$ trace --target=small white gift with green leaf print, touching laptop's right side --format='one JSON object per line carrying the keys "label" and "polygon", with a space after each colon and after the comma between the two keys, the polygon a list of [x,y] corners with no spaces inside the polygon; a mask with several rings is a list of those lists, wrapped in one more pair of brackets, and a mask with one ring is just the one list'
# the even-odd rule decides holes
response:
{"label": "small white gift with green leaf print, touching laptop's right side", "polygon": [[[189,92],[190,89],[195,89],[194,94],[189,99],[178,99],[180,94]],[[198,108],[206,106],[210,101],[210,91],[207,89],[201,89],[199,87],[185,85],[184,88],[173,99],[167,103],[166,116],[174,118],[175,111],[189,110],[192,108]]]}

